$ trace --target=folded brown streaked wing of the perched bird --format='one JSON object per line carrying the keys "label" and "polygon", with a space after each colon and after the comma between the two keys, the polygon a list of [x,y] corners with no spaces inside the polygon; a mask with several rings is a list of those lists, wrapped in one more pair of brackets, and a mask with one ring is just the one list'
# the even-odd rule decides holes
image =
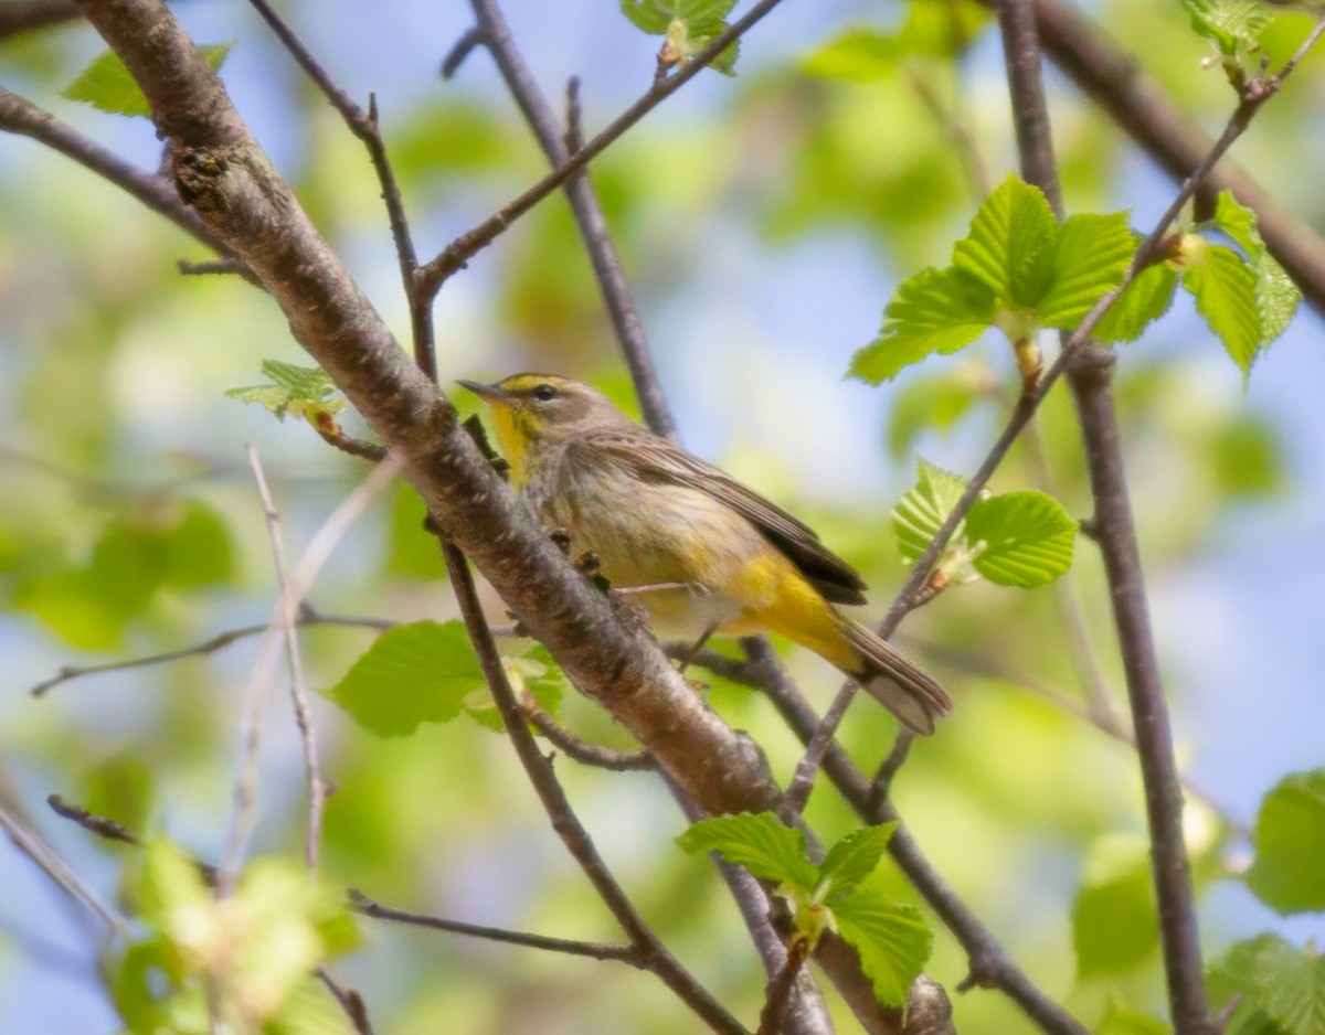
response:
{"label": "folded brown streaked wing of the perched bird", "polygon": [[578,445],[613,454],[617,462],[633,467],[641,478],[686,486],[713,496],[758,528],[825,600],[833,604],[865,602],[864,580],[824,547],[812,528],[712,463],[644,429],[594,431]]}

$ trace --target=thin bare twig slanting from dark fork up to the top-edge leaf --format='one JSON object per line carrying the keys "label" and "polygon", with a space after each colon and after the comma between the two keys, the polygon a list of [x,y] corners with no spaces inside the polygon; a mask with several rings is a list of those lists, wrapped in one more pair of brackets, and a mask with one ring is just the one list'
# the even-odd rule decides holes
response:
{"label": "thin bare twig slanting from dark fork up to the top-edge leaf", "polygon": [[420,289],[428,296],[436,295],[448,277],[464,269],[470,258],[497,240],[515,220],[588,165],[590,161],[598,158],[610,144],[615,143],[617,138],[633,127],[644,115],[694,78],[713,58],[721,54],[730,44],[739,40],[747,29],[763,19],[782,0],[759,0],[743,17],[737,19],[731,24],[731,28],[718,36],[673,75],[655,81],[653,86],[639,101],[617,115],[606,130],[592,139],[586,140],[584,147],[567,158],[566,161],[562,161],[553,172],[501,210],[452,241],[440,255],[419,269],[417,279]]}

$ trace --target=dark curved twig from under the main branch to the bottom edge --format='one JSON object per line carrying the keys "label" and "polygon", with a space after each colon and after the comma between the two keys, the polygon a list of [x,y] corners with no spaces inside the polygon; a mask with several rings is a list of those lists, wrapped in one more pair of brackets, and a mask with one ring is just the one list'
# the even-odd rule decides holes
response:
{"label": "dark curved twig from under the main branch to the bottom edge", "polygon": [[447,560],[447,572],[460,604],[460,613],[465,627],[469,631],[469,641],[478,655],[478,664],[484,678],[492,691],[497,711],[501,712],[506,724],[506,733],[510,736],[515,753],[529,776],[530,784],[538,793],[543,809],[553,821],[553,829],[560,836],[562,843],[571,856],[579,863],[584,876],[588,878],[603,904],[621,925],[631,945],[640,953],[640,965],[652,970],[673,993],[701,1016],[716,1031],[743,1035],[746,1028],[726,1009],[704,989],[690,973],[677,962],[670,952],[659,941],[657,934],[639,915],[629,897],[625,895],[616,878],[607,868],[603,858],[598,854],[588,831],[580,825],[571,809],[551,762],[543,757],[530,733],[525,716],[515,700],[515,692],[506,678],[501,655],[493,642],[484,621],[478,596],[474,592],[473,576],[464,555],[449,544],[443,545],[443,555]]}

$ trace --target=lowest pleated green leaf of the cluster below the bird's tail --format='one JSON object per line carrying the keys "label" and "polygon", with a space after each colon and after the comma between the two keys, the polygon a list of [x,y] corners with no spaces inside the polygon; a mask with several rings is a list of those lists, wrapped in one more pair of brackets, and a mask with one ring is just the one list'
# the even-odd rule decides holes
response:
{"label": "lowest pleated green leaf of the cluster below the bird's tail", "polygon": [[856,946],[860,965],[885,1006],[904,1006],[929,960],[933,934],[914,905],[857,889],[833,907],[837,933]]}

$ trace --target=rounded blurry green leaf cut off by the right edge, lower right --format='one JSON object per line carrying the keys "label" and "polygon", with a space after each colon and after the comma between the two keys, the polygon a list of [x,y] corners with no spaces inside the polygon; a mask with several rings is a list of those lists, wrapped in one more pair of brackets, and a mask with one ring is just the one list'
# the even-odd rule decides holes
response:
{"label": "rounded blurry green leaf cut off by the right edge, lower right", "polygon": [[1293,773],[1260,803],[1247,885],[1280,913],[1325,909],[1325,769]]}

